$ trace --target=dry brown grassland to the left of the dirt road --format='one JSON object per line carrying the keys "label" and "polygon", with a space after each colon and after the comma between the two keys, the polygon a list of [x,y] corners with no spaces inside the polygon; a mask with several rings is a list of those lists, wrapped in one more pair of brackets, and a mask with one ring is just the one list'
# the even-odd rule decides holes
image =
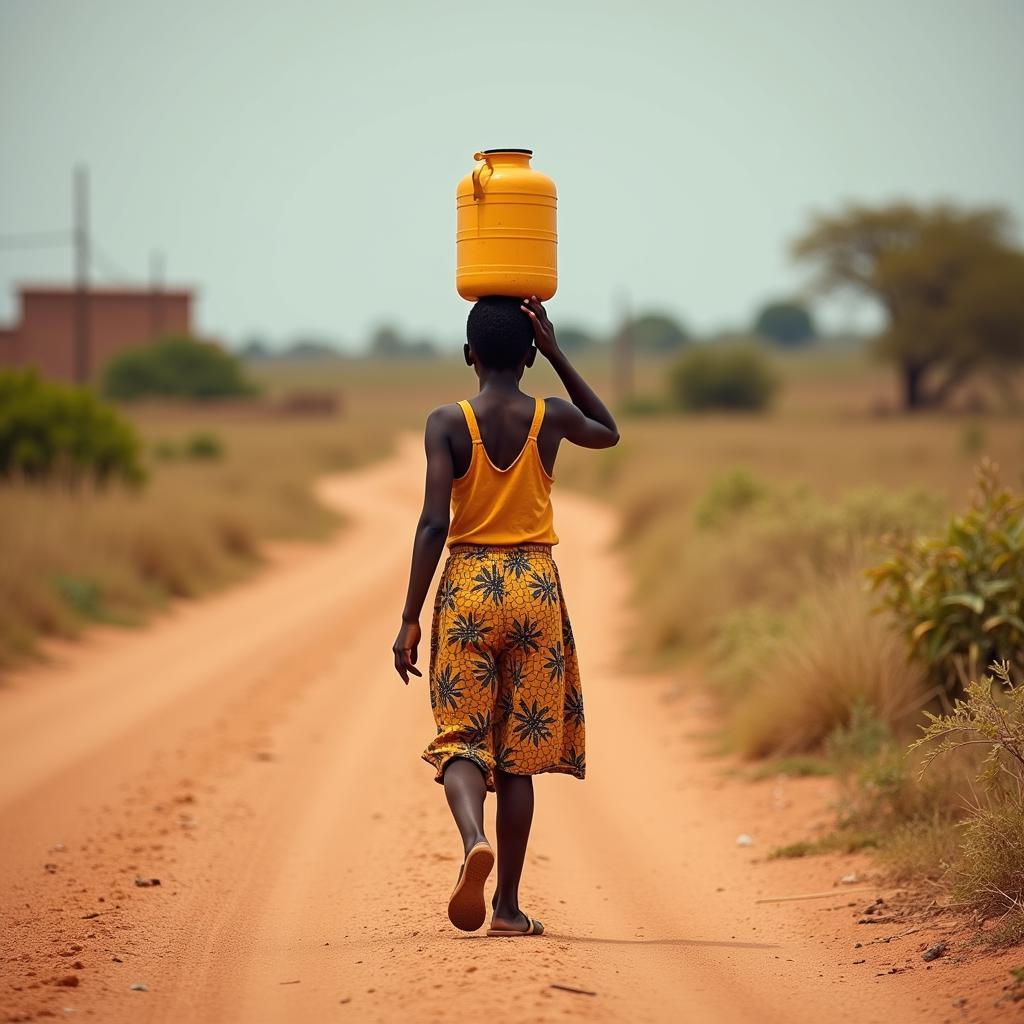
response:
{"label": "dry brown grassland to the left of the dirt road", "polygon": [[41,637],[137,625],[172,598],[236,582],[267,541],[327,536],[337,518],[311,480],[382,455],[391,436],[369,421],[241,407],[130,415],[146,445],[145,487],[3,485],[0,667],[31,657]]}

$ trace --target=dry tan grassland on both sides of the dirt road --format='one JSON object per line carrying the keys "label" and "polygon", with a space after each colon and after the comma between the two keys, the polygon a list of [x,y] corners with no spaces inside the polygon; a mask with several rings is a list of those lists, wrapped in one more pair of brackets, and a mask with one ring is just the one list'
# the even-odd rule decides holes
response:
{"label": "dry tan grassland on both sides of the dirt road", "polygon": [[[638,360],[623,442],[559,457],[559,485],[621,512],[632,653],[710,664],[725,741],[762,759],[756,771],[836,776],[834,833],[776,855],[866,848],[895,877],[941,879],[968,902],[1017,892],[1024,820],[995,814],[965,839],[976,764],[950,759],[919,782],[904,757],[930,693],[858,581],[882,534],[927,529],[963,501],[981,456],[1024,482],[1024,421],[893,415],[892,375],[854,350],[775,361],[784,387],[770,415],[684,417],[666,411],[666,360]],[[608,394],[607,354],[581,365]],[[0,667],[41,636],[133,625],[242,579],[268,541],[327,536],[338,523],[312,497],[316,475],[380,457],[429,409],[474,390],[455,357],[252,370],[266,395],[256,402],[131,410],[148,453],[140,492],[3,485]],[[547,366],[525,386],[561,393]],[[337,395],[337,415],[285,415],[302,390]],[[1024,913],[985,934],[1021,941]]]}

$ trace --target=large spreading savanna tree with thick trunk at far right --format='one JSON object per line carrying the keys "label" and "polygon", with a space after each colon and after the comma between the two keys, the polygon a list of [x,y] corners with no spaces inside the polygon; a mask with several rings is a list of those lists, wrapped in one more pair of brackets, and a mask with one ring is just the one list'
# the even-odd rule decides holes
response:
{"label": "large spreading savanna tree with thick trunk at far right", "polygon": [[794,244],[822,292],[878,301],[880,352],[899,369],[908,410],[941,404],[973,374],[1024,361],[1024,252],[998,208],[851,206],[818,216]]}

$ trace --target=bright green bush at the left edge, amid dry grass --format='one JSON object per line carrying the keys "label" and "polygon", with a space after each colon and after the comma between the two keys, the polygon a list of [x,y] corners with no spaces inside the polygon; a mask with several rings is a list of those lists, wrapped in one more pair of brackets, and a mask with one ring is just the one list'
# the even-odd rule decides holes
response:
{"label": "bright green bush at the left edge, amid dry grass", "polygon": [[137,484],[140,453],[134,427],[87,388],[0,372],[0,476]]}

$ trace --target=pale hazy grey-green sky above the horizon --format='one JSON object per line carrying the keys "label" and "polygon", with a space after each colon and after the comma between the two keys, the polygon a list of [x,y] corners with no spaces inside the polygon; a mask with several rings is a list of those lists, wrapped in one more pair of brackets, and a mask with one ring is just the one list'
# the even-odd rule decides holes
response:
{"label": "pale hazy grey-green sky above the horizon", "polygon": [[[1021,0],[0,0],[0,236],[67,225],[82,160],[108,261],[163,249],[208,333],[454,339],[456,181],[527,146],[556,324],[714,330],[800,287],[812,209],[1024,219],[1022,42]],[[0,249],[0,319],[70,267]]]}

